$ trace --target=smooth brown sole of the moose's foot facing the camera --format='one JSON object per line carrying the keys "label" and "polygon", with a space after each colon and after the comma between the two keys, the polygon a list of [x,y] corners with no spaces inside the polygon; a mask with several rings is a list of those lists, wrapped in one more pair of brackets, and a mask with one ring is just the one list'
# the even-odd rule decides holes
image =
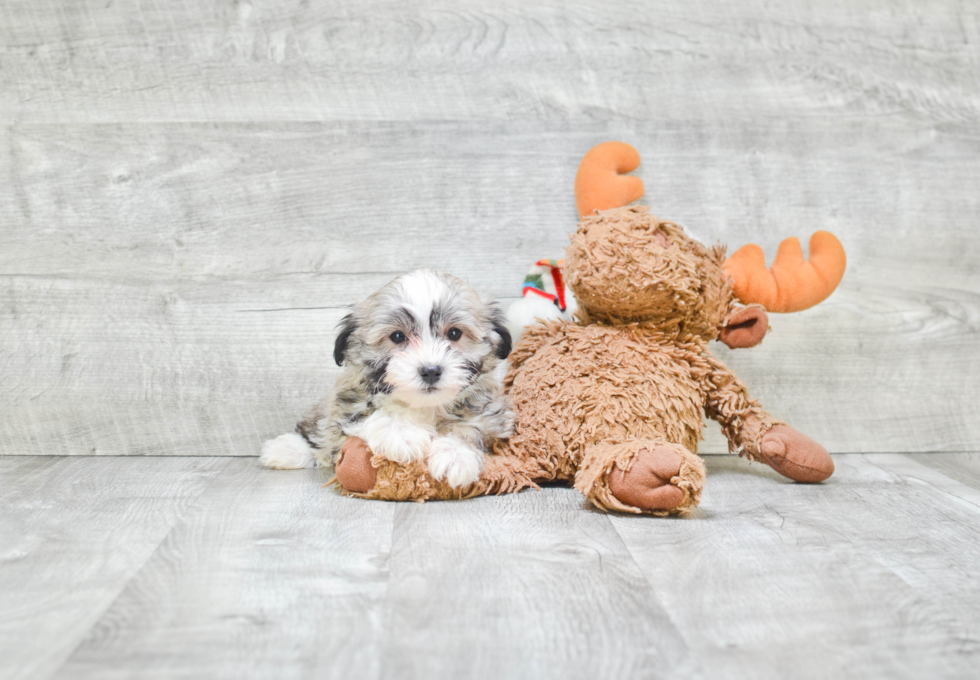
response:
{"label": "smooth brown sole of the moose's foot facing the camera", "polygon": [[609,490],[620,502],[641,510],[674,510],[686,495],[670,480],[680,475],[683,463],[681,455],[669,446],[640,449],[629,470],[617,464],[609,473]]}

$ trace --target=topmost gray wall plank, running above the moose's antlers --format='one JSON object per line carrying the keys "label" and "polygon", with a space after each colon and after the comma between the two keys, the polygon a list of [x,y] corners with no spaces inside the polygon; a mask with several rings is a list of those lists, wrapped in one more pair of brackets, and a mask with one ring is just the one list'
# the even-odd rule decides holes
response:
{"label": "topmost gray wall plank, running above the moose's antlers", "polygon": [[975,124],[974,3],[8,0],[0,118]]}

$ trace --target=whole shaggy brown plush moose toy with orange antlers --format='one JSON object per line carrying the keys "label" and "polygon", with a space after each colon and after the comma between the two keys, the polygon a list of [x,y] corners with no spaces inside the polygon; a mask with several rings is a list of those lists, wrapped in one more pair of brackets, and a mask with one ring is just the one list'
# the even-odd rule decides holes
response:
{"label": "whole shaggy brown plush moose toy with orange antlers", "polygon": [[645,206],[622,173],[639,155],[618,142],[583,158],[576,177],[581,216],[565,258],[578,300],[575,321],[528,327],[510,356],[505,387],[516,433],[493,443],[480,480],[452,489],[422,465],[400,466],[349,439],[337,480],[366,498],[426,500],[574,483],[606,510],[655,515],[694,508],[704,483],[696,455],[701,414],[717,420],[729,450],[800,482],[834,470],[826,449],[775,418],[709,350],[758,344],[766,310],[792,312],[825,299],[844,273],[840,242],[827,232],[780,245],[771,269],[761,248],[725,248],[690,238]]}

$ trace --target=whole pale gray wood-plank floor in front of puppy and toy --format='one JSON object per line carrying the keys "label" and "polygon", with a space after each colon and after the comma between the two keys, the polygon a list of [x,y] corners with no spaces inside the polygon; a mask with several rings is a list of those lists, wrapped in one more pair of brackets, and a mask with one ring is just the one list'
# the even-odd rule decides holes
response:
{"label": "whole pale gray wood-plank floor in front of puppy and toy", "polygon": [[0,458],[0,677],[967,678],[980,454],[709,456],[686,519],[339,496],[254,459]]}

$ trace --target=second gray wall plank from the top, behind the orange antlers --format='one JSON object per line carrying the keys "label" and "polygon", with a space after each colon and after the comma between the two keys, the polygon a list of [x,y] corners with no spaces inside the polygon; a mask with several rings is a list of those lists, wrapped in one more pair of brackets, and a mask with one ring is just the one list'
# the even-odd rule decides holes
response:
{"label": "second gray wall plank from the top, behind the orange antlers", "polygon": [[[705,242],[757,242],[771,257],[787,236],[830,229],[848,250],[843,285],[872,297],[973,294],[978,281],[980,140],[955,126],[817,117],[21,124],[2,134],[11,153],[0,177],[17,197],[0,202],[6,276],[283,286],[346,276],[355,285],[334,304],[347,304],[370,290],[359,275],[431,266],[514,295],[529,262],[560,255],[575,228],[582,154],[623,138],[646,161],[644,202]],[[972,326],[959,304],[941,311]]]}

